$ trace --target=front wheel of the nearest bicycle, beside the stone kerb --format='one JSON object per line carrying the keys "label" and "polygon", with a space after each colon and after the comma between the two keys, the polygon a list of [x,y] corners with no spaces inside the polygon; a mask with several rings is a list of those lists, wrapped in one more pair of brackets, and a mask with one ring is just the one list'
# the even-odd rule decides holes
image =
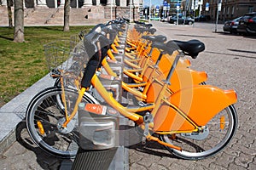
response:
{"label": "front wheel of the nearest bicycle, beside the stone kerb", "polygon": [[[67,113],[71,113],[78,93],[65,89]],[[90,94],[85,94],[83,102],[96,103]],[[76,155],[79,148],[78,114],[66,128],[65,109],[61,99],[61,88],[47,88],[36,95],[26,110],[26,127],[32,140],[43,150],[54,156],[70,158]]]}

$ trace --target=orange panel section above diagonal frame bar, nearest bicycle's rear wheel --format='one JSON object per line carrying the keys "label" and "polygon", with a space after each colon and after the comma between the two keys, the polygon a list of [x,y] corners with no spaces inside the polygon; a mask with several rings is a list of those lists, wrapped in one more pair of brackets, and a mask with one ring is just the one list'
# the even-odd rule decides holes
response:
{"label": "orange panel section above diagonal frame bar, nearest bicycle's rear wheel", "polygon": [[198,126],[205,126],[213,116],[237,101],[234,90],[223,90],[209,85],[185,88],[171,96],[176,105]]}

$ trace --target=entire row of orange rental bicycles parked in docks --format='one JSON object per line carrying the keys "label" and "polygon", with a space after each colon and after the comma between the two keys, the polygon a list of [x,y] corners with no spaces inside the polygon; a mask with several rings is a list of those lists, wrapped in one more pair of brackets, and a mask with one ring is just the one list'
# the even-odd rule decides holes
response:
{"label": "entire row of orange rental bicycles parked in docks", "polygon": [[124,116],[143,143],[154,141],[183,159],[224,149],[236,132],[236,92],[207,85],[205,71],[189,68],[183,56],[196,59],[203,42],[167,41],[155,32],[118,19],[83,31],[66,48],[46,45],[55,84],[27,107],[33,141],[61,157],[79,147],[107,150],[119,145],[114,120]]}

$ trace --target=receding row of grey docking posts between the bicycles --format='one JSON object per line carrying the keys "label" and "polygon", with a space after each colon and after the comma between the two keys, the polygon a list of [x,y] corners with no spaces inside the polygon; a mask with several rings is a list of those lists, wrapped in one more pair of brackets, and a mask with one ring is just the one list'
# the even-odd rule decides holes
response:
{"label": "receding row of grey docking posts between the bicycles", "polygon": [[[96,75],[113,99],[126,103],[127,99],[122,94],[125,32],[119,38],[121,42],[117,48],[118,53],[114,54],[116,61],[108,59],[108,65],[116,77],[109,76],[106,69],[102,69],[99,74],[96,72]],[[125,161],[128,157],[125,149],[125,136],[128,135],[125,126],[128,119],[109,106],[95,88],[91,89],[91,94],[101,105],[79,104],[79,150],[72,169],[124,169],[128,166]]]}

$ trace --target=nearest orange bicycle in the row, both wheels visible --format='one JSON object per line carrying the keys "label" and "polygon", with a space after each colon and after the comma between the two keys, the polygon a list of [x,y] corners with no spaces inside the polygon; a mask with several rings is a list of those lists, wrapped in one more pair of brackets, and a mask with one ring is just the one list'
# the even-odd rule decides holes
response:
{"label": "nearest orange bicycle in the row, both wheels visible", "polygon": [[[91,49],[99,58],[105,57],[104,37],[96,34],[91,40],[91,48],[85,46],[84,51],[79,53],[81,59],[84,59],[84,55]],[[158,48],[172,55],[173,51],[168,50],[166,44],[158,44]],[[222,90],[210,85],[191,85],[174,94],[170,93],[168,86],[180,55],[176,55],[165,79],[162,75],[155,77],[150,83],[147,94],[150,98],[146,99],[146,104],[150,105],[135,106],[133,109],[113,99],[113,93],[109,93],[99,79],[101,73],[95,72],[97,65],[94,65],[95,70],[88,74],[88,71],[91,71],[88,69],[90,56],[87,55],[83,62],[79,62],[80,58],[74,59],[74,56],[73,54],[70,58],[72,65],[79,65],[84,61],[86,63],[87,69],[81,81],[82,88],[68,88],[69,83],[74,82],[69,81],[73,73],[68,66],[67,71],[59,72],[61,88],[44,90],[32,99],[26,111],[27,129],[32,139],[51,154],[62,157],[75,156],[79,145],[79,103],[85,104],[84,110],[88,103],[102,105],[90,95],[91,89],[101,95],[106,105],[141,127],[144,141],[147,139],[162,144],[183,159],[197,160],[217,154],[229,144],[236,132],[237,116],[233,104],[236,103],[237,97],[234,90]],[[84,65],[79,65],[78,68],[83,69]],[[81,69],[78,72],[80,73]],[[80,76],[76,75],[74,78],[78,77]]]}

